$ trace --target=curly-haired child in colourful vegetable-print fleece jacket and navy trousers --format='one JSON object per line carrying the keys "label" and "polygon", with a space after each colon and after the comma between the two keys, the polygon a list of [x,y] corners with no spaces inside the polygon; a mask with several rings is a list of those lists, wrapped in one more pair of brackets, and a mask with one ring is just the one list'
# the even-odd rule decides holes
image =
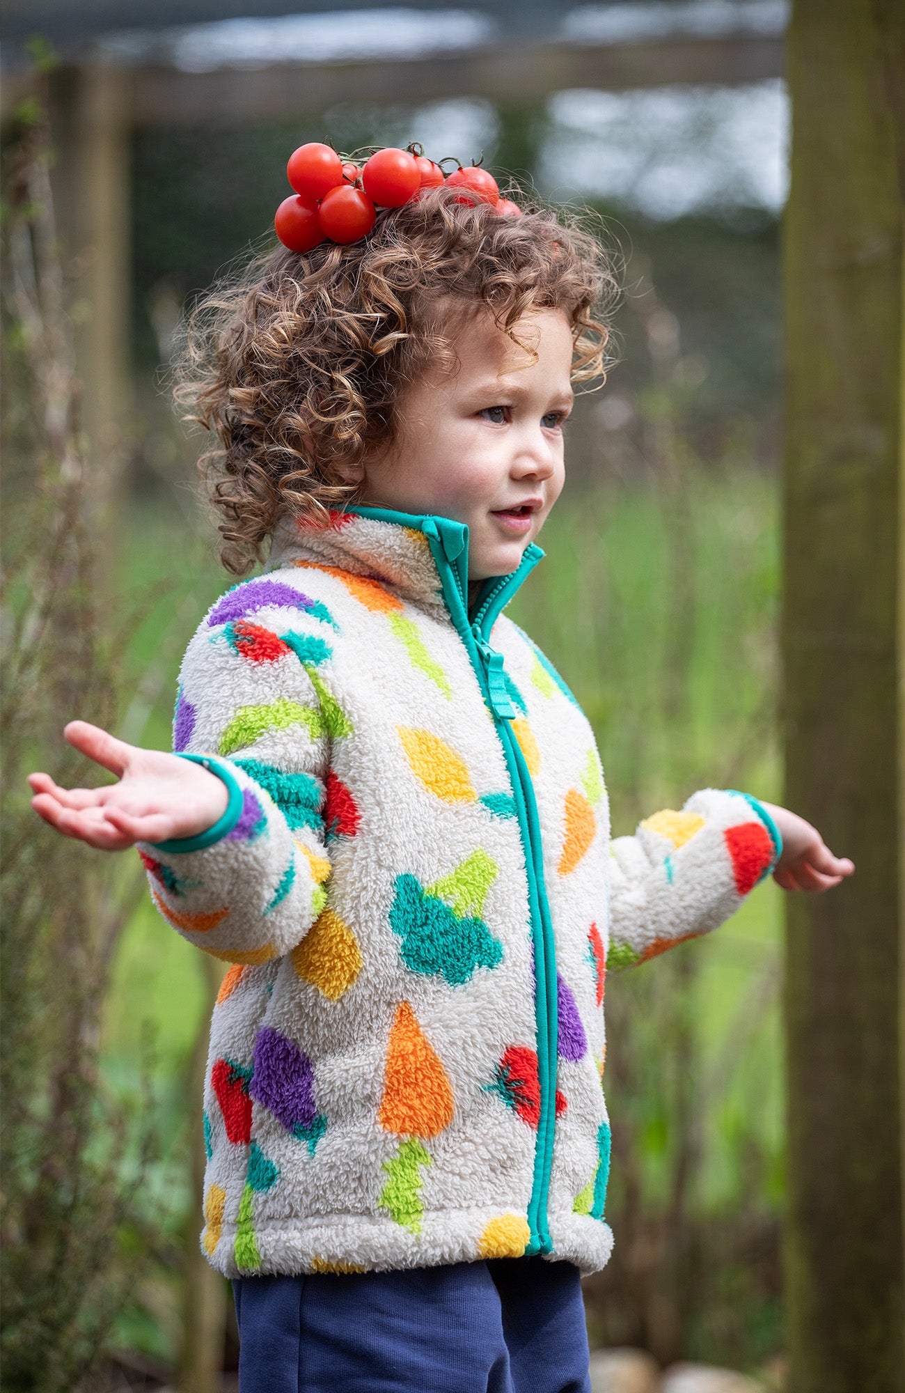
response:
{"label": "curly-haired child in colourful vegetable-print fleece jacket and navy trousers", "polygon": [[71,722],[118,783],[31,776],[230,964],[202,1245],[242,1393],[589,1389],[604,958],[716,928],[770,871],[853,869],[713,788],[610,844],[590,726],[503,616],[608,281],[592,238],[459,181],[212,297],[182,396],[220,443],[223,559],[270,539],[267,573],[188,646],[177,755]]}

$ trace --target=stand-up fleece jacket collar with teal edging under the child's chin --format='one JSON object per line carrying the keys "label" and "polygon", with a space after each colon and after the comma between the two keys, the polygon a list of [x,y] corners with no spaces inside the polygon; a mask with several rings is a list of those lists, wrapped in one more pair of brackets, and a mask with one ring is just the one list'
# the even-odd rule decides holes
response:
{"label": "stand-up fleece jacket collar with teal edging under the child's chin", "polygon": [[[485,581],[475,614],[485,632],[510,602],[543,552],[528,546],[521,566]],[[427,607],[448,607],[457,628],[468,616],[468,528],[450,518],[349,507],[331,511],[326,525],[284,518],[273,539],[267,570],[323,566],[366,575],[391,586],[401,599]]]}

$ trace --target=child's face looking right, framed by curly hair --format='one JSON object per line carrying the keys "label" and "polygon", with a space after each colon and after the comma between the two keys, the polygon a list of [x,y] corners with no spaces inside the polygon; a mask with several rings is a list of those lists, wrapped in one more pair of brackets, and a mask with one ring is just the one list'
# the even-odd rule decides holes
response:
{"label": "child's face looking right, framed by curly hair", "polygon": [[362,501],[466,522],[469,579],[514,571],[560,496],[572,407],[572,333],[558,309],[526,315],[519,350],[482,312],[452,337],[459,368],[405,389],[393,444],[363,467]]}

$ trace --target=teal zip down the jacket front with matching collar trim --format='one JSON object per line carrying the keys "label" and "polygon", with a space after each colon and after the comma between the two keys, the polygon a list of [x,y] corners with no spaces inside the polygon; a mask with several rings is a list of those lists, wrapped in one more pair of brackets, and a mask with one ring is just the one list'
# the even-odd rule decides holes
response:
{"label": "teal zip down the jacket front with matching collar trim", "polygon": [[485,584],[473,618],[468,613],[468,528],[462,522],[432,515],[418,517],[390,508],[351,507],[347,511],[381,522],[395,522],[414,528],[427,538],[437,566],[443,598],[452,625],[465,645],[472,669],[480,684],[487,708],[493,715],[503,745],[515,811],[525,853],[528,873],[528,904],[532,942],[535,947],[535,1021],[537,1031],[537,1074],[540,1082],[540,1117],[535,1145],[535,1174],[528,1223],[530,1238],[525,1256],[553,1252],[547,1226],[547,1195],[553,1166],[556,1128],[556,1073],[557,1073],[557,971],[553,921],[543,875],[543,846],[535,788],[525,756],[510,720],[515,708],[503,676],[503,655],[489,642],[490,631],[501,610],[528,574],[543,557],[539,546],[528,546],[519,567],[510,575],[496,577]]}

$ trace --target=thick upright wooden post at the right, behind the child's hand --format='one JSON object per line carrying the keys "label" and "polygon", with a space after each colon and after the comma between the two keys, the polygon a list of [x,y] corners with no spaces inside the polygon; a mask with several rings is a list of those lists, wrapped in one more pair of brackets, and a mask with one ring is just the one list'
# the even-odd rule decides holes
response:
{"label": "thick upright wooden post at the right, behind the child's hand", "polygon": [[788,903],[791,1393],[905,1389],[904,28],[886,0],[792,6],[787,802],[856,875]]}

